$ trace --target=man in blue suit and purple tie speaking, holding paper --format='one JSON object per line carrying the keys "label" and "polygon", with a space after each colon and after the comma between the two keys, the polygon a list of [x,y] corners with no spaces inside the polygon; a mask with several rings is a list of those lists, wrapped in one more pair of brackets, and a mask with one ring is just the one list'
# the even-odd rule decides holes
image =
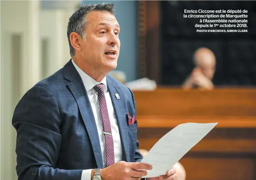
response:
{"label": "man in blue suit and purple tie speaking, holding paper", "polygon": [[[117,66],[119,24],[113,4],[80,7],[68,24],[72,59],[19,101],[18,180],[139,180],[133,92],[107,75]],[[176,179],[171,168],[151,180]]]}

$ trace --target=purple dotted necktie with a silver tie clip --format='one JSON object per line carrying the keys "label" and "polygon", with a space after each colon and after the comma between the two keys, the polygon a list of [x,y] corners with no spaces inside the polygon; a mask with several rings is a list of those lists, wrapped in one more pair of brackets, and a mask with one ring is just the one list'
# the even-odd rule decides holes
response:
{"label": "purple dotted necktie with a silver tie clip", "polygon": [[94,90],[98,92],[99,104],[101,109],[101,117],[103,121],[103,134],[105,135],[106,146],[106,166],[114,164],[114,144],[110,127],[110,118],[107,108],[107,102],[104,95],[105,85],[98,84],[94,87]]}

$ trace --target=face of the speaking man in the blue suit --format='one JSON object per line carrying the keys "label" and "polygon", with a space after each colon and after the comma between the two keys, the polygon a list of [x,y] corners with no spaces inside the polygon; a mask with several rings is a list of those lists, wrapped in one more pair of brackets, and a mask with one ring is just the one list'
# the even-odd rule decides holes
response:
{"label": "face of the speaking man in the blue suit", "polygon": [[119,24],[109,12],[89,12],[85,40],[81,41],[82,59],[94,70],[116,68],[120,51],[119,32]]}

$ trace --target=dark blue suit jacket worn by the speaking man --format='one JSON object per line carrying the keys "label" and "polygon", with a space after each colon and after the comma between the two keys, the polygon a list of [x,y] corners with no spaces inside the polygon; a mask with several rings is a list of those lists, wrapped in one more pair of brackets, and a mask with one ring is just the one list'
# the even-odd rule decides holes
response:
{"label": "dark blue suit jacket worn by the speaking man", "polygon": [[[137,121],[131,90],[107,75],[123,160],[139,162]],[[115,97],[118,93],[120,99]],[[12,124],[17,130],[18,180],[81,180],[82,170],[104,168],[94,115],[82,80],[71,60],[22,97]]]}

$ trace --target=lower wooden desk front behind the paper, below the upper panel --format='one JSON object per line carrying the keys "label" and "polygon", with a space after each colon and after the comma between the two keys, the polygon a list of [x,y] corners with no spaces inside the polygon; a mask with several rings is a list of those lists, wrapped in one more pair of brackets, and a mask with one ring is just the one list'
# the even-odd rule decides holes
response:
{"label": "lower wooden desk front behind the paper, below the upper panel", "polygon": [[[170,130],[139,128],[140,148],[150,150]],[[213,129],[180,162],[186,180],[256,180],[256,129]]]}

